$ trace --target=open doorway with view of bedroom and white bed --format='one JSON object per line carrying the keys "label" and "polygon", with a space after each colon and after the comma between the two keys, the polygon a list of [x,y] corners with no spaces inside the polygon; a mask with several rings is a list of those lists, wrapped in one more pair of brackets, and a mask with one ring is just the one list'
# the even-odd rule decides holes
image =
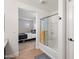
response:
{"label": "open doorway with view of bedroom and white bed", "polygon": [[19,21],[19,50],[22,51],[25,48],[34,49],[36,42],[36,17],[35,12],[18,9],[18,21]]}

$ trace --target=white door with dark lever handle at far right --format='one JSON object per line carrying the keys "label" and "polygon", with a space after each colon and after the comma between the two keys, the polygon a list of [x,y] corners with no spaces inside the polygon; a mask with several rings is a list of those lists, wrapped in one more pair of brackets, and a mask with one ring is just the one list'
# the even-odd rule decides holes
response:
{"label": "white door with dark lever handle at far right", "polygon": [[67,0],[67,59],[74,59],[74,0]]}

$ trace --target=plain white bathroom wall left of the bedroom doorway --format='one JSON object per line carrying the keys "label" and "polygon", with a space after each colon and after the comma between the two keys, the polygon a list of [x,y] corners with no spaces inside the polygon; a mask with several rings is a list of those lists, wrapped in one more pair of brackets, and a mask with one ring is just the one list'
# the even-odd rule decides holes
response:
{"label": "plain white bathroom wall left of the bedroom doorway", "polygon": [[18,55],[18,9],[16,0],[5,0],[5,34],[9,39],[5,48],[7,56]]}

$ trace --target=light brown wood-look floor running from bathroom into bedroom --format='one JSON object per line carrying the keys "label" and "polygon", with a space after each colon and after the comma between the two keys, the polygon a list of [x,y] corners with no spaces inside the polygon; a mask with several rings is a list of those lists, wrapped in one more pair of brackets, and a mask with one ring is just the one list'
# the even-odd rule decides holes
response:
{"label": "light brown wood-look floor running from bathroom into bedroom", "polygon": [[35,40],[20,43],[20,55],[13,59],[35,59],[35,56],[42,54],[39,49],[35,49]]}

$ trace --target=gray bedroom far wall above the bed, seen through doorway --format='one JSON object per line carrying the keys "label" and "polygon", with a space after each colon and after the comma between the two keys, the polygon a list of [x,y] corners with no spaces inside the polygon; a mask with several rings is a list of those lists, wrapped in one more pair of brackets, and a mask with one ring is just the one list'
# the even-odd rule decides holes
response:
{"label": "gray bedroom far wall above the bed, seen through doorway", "polygon": [[29,33],[32,29],[33,20],[19,20],[19,33]]}

